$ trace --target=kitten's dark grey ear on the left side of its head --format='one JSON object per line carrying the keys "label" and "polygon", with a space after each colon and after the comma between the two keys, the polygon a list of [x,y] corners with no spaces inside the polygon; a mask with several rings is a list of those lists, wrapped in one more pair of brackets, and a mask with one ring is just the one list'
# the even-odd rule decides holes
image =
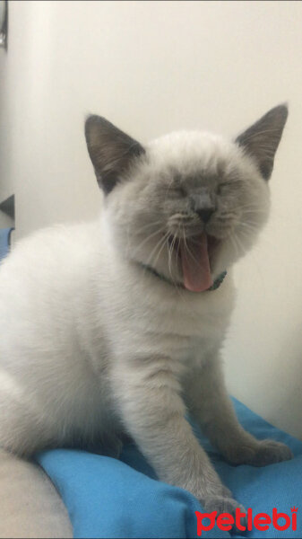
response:
{"label": "kitten's dark grey ear on the left side of its head", "polygon": [[144,148],[107,119],[89,116],[85,137],[99,187],[108,194]]}

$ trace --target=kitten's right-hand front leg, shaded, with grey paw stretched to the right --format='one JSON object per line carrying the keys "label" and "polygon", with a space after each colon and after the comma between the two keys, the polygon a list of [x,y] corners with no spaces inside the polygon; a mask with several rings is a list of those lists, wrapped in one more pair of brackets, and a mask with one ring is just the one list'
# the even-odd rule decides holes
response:
{"label": "kitten's right-hand front leg, shaded, with grey paw stretched to the right", "polygon": [[212,446],[231,464],[265,466],[292,458],[288,446],[257,440],[239,424],[225,388],[220,358],[214,355],[186,379],[186,402]]}

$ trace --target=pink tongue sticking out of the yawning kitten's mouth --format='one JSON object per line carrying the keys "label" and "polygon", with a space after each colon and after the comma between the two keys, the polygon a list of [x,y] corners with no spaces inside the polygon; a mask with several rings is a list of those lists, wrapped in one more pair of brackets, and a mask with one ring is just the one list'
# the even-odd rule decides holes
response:
{"label": "pink tongue sticking out of the yawning kitten's mouth", "polygon": [[208,254],[207,235],[186,239],[180,244],[184,285],[191,292],[203,292],[213,284]]}

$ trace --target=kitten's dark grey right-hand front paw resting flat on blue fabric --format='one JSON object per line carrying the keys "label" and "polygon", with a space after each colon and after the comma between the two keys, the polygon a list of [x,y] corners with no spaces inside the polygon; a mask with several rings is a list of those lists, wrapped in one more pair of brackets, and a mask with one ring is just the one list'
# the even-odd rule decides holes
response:
{"label": "kitten's dark grey right-hand front paw resting flat on blue fabric", "polygon": [[257,440],[253,446],[237,446],[228,455],[232,464],[249,464],[251,466],[267,466],[293,457],[289,447],[275,440]]}

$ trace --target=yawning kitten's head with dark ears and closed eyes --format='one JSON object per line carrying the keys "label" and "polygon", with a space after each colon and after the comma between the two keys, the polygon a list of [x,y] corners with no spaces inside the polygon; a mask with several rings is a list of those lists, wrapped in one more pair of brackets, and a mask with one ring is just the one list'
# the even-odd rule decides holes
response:
{"label": "yawning kitten's head with dark ears and closed eyes", "polygon": [[287,116],[275,107],[234,140],[183,131],[145,146],[90,116],[87,146],[122,256],[189,290],[211,287],[267,220]]}

